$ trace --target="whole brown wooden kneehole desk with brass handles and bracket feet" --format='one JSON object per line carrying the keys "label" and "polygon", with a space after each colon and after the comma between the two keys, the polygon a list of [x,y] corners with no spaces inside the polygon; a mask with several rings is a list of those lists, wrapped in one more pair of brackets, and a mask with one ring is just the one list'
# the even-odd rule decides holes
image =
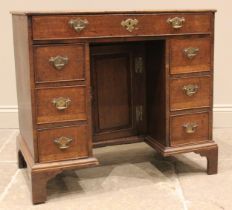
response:
{"label": "whole brown wooden kneehole desk with brass handles and bracket feet", "polygon": [[144,141],[206,156],[217,173],[214,13],[12,13],[18,163],[33,203],[56,174],[99,164],[93,147]]}

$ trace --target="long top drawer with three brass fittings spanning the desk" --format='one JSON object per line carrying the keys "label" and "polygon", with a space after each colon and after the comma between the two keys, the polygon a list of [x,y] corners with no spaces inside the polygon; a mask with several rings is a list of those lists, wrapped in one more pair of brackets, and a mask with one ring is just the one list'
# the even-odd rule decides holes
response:
{"label": "long top drawer with three brass fittings spanning the desk", "polygon": [[209,33],[211,14],[43,15],[32,17],[32,30],[34,40]]}

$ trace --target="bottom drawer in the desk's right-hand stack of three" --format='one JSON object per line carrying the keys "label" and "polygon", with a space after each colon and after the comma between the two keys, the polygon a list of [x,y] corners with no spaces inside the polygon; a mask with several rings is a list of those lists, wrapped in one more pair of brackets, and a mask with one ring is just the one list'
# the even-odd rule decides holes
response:
{"label": "bottom drawer in the desk's right-hand stack of three", "polygon": [[178,146],[209,140],[209,113],[172,116],[170,144]]}

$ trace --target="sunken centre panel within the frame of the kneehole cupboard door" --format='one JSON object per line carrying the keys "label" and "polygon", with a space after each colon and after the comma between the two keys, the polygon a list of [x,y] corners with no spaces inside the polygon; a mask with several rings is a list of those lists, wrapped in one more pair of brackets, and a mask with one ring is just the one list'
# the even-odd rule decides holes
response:
{"label": "sunken centre panel within the frame of the kneehole cupboard door", "polygon": [[131,88],[128,54],[102,56],[95,62],[98,131],[130,127]]}

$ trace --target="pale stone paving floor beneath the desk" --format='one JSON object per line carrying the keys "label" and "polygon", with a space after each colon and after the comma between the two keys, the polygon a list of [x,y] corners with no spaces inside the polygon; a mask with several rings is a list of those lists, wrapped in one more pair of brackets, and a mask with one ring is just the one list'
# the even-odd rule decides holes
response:
{"label": "pale stone paving floor beneath the desk", "polygon": [[0,130],[0,209],[232,209],[232,129],[215,129],[219,173],[189,153],[162,158],[145,143],[95,149],[101,165],[67,171],[48,183],[48,200],[32,205],[24,169],[16,164],[18,130]]}

